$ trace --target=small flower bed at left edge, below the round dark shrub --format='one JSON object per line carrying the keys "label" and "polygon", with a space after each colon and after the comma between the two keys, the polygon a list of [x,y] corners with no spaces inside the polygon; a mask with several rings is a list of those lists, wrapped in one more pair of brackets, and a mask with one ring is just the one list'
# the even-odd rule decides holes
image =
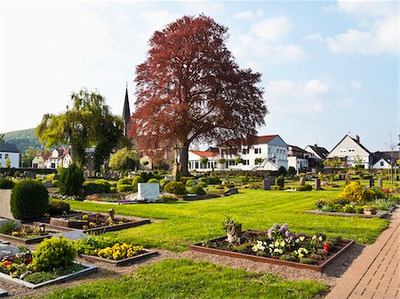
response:
{"label": "small flower bed at left edge, below the round dark shrub", "polygon": [[44,239],[51,238],[54,231],[41,231],[38,225],[23,224],[17,226],[16,223],[8,223],[10,229],[7,232],[0,233],[4,240],[16,241],[22,244],[39,243]]}

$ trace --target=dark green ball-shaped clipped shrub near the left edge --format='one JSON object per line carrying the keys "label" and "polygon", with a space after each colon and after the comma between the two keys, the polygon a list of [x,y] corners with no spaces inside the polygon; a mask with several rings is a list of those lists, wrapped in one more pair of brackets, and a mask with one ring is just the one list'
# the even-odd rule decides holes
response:
{"label": "dark green ball-shaped clipped shrub near the left edge", "polygon": [[42,183],[32,179],[20,182],[12,188],[12,215],[20,220],[32,220],[44,215],[49,203],[49,193]]}

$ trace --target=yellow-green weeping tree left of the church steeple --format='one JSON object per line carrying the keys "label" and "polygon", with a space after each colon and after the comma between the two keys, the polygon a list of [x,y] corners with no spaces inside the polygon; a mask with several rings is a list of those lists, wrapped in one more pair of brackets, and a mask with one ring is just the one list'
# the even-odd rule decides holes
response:
{"label": "yellow-green weeping tree left of the church steeple", "polygon": [[72,107],[62,114],[44,114],[36,127],[36,135],[46,148],[71,146],[74,161],[84,167],[86,149],[96,146],[94,164],[96,171],[108,159],[118,144],[126,144],[124,123],[110,114],[106,99],[97,91],[79,90],[71,95]]}

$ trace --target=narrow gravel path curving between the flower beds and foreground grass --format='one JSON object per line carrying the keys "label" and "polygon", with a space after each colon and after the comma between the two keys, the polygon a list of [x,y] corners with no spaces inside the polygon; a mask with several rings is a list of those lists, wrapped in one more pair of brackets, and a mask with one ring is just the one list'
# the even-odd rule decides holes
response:
{"label": "narrow gravel path curving between the flower beds and foreground grass", "polygon": [[4,288],[8,291],[9,295],[5,298],[33,298],[48,294],[52,290],[55,290],[60,287],[74,287],[80,286],[84,284],[91,283],[93,281],[99,281],[101,279],[118,279],[123,275],[127,275],[132,271],[139,269],[141,266],[145,264],[155,264],[164,259],[175,259],[175,258],[188,258],[195,261],[207,260],[213,264],[220,264],[228,267],[233,267],[236,269],[244,269],[246,271],[255,271],[255,272],[268,272],[275,273],[276,275],[281,276],[284,279],[290,280],[300,280],[300,279],[311,279],[316,281],[321,281],[333,287],[338,282],[340,276],[348,269],[349,265],[359,256],[364,250],[364,247],[358,244],[354,244],[348,251],[340,256],[335,262],[329,265],[324,273],[304,270],[304,269],[295,269],[292,267],[281,266],[276,264],[266,264],[260,262],[253,262],[246,259],[238,259],[231,258],[228,256],[216,256],[203,254],[195,251],[185,251],[182,253],[174,253],[166,250],[158,250],[159,255],[150,257],[148,259],[144,259],[140,261],[138,264],[132,264],[130,266],[125,267],[115,267],[108,264],[102,264],[99,262],[87,262],[81,258],[77,260],[79,262],[83,262],[85,264],[94,264],[100,267],[99,271],[92,273],[87,277],[83,277],[81,279],[71,280],[67,282],[60,283],[58,285],[50,286],[50,287],[41,287],[36,290],[31,290],[26,287],[20,287],[19,285],[13,284],[11,282],[6,282],[1,280],[0,287]]}

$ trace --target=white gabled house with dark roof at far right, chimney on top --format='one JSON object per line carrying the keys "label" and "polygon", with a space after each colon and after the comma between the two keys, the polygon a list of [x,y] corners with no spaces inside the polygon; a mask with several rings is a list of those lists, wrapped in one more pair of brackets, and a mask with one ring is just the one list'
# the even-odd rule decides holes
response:
{"label": "white gabled house with dark roof at far right, chimney on top", "polygon": [[364,169],[372,167],[372,153],[368,151],[361,143],[357,135],[351,138],[346,135],[340,140],[337,146],[326,156],[327,159],[338,157],[342,166],[356,166],[358,164]]}

